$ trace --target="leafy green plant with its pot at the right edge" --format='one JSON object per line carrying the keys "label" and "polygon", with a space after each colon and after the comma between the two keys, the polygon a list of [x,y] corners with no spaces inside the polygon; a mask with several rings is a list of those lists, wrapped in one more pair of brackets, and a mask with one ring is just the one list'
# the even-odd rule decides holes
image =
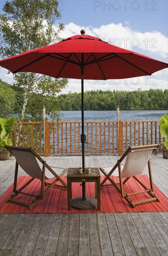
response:
{"label": "leafy green plant with its pot at the right edge", "polygon": [[163,158],[168,159],[168,115],[163,115],[159,121],[160,132],[164,138],[164,141],[161,142],[163,145],[162,153]]}

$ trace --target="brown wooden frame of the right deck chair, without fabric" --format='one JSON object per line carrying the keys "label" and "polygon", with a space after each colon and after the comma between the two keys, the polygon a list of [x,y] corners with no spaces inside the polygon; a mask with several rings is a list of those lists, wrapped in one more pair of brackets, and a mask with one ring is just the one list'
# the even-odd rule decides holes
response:
{"label": "brown wooden frame of the right deck chair, without fabric", "polygon": [[[106,186],[114,186],[118,192],[121,194],[121,197],[124,198],[132,208],[135,208],[137,205],[143,204],[143,203],[148,203],[148,202],[154,202],[157,201],[159,202],[159,198],[156,197],[156,195],[153,193],[154,187],[153,187],[153,179],[152,179],[152,172],[151,172],[151,163],[150,163],[150,158],[148,161],[148,171],[149,171],[149,180],[150,180],[150,189],[143,183],[141,182],[137,176],[131,176],[134,178],[145,190],[131,193],[131,194],[126,194],[124,192],[124,184],[131,178],[131,177],[126,177],[123,181],[122,178],[122,171],[121,171],[121,162],[124,160],[124,158],[132,151],[132,150],[142,150],[142,149],[149,149],[149,148],[158,148],[159,144],[151,144],[151,145],[145,145],[145,146],[137,146],[137,147],[129,147],[125,153],[121,156],[121,158],[117,161],[117,163],[114,165],[112,170],[107,174],[104,168],[100,167],[100,171],[106,176],[105,179],[101,182],[100,188],[106,187]],[[152,153],[154,153],[156,149],[153,150]],[[119,177],[119,182],[114,182],[111,178],[112,173],[114,170],[118,168],[118,177]],[[111,183],[104,184],[107,180],[109,180]],[[152,198],[146,199],[146,200],[141,200],[137,202],[132,202],[130,196],[131,195],[137,195],[141,193],[148,193]]]}

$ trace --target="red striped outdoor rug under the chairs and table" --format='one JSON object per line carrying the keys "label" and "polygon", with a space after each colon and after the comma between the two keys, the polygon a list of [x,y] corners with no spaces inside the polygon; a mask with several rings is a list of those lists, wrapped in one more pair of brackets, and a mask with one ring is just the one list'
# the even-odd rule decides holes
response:
{"label": "red striped outdoor rug under the chairs and table", "polygon": [[[101,177],[101,180],[104,176]],[[139,178],[142,182],[149,184],[149,178],[146,175],[139,175]],[[18,186],[21,187],[30,177],[21,176],[18,179]],[[118,178],[116,178],[118,179]],[[63,177],[63,180],[66,182],[66,176]],[[59,183],[57,183],[59,184]],[[76,210],[71,208],[68,211],[67,208],[67,190],[52,188],[50,189],[43,200],[39,200],[34,208],[29,210],[25,206],[15,204],[12,202],[6,203],[6,199],[12,194],[13,186],[10,186],[5,192],[4,195],[0,198],[0,213],[93,213],[93,212],[167,212],[168,211],[168,198],[155,186],[154,193],[160,199],[160,202],[150,202],[142,205],[136,206],[136,208],[131,208],[131,206],[126,202],[125,199],[121,198],[121,195],[118,193],[117,189],[113,186],[104,187],[101,189],[101,211],[96,209],[93,210]],[[126,192],[133,193],[138,190],[142,190],[142,187],[130,179],[125,185],[124,188]],[[132,188],[132,189],[130,189]],[[27,188],[25,189],[26,193],[35,193],[40,190],[40,182],[35,179]],[[35,193],[36,194],[36,193]],[[86,195],[89,197],[95,196],[95,184],[92,182],[86,183]],[[81,186],[80,183],[72,183],[72,198],[79,197],[81,195]],[[143,200],[148,198],[147,193],[134,195],[135,200]],[[26,202],[31,202],[32,197],[27,195],[18,195],[19,200]],[[133,198],[133,197],[132,197]]]}

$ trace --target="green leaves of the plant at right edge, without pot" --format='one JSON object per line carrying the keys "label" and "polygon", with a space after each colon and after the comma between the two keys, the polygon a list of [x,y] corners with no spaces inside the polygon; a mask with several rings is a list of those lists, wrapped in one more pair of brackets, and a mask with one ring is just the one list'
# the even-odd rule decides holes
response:
{"label": "green leaves of the plant at right edge, without pot", "polygon": [[161,135],[165,138],[161,144],[168,149],[168,115],[163,115],[159,121]]}

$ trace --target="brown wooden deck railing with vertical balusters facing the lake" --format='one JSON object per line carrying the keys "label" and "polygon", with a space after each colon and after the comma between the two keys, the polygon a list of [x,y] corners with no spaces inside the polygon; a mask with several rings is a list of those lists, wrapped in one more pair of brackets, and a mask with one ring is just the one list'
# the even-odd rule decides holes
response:
{"label": "brown wooden deck railing with vertical balusters facing the lake", "polygon": [[[85,134],[87,155],[122,155],[129,146],[162,140],[159,121],[85,122]],[[15,146],[46,156],[81,154],[81,122],[15,122],[11,138]]]}

